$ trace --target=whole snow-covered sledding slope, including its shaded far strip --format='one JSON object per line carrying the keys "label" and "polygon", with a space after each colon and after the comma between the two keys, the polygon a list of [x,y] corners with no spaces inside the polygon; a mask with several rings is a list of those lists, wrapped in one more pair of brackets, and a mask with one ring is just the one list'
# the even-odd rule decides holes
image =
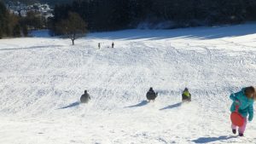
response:
{"label": "whole snow-covered sledding slope, including its shaded far strip", "polygon": [[[229,100],[255,84],[255,33],[244,24],[97,32],[74,46],[1,39],[0,143],[255,143],[255,119],[245,137],[231,133]],[[192,102],[181,104],[185,87]]]}

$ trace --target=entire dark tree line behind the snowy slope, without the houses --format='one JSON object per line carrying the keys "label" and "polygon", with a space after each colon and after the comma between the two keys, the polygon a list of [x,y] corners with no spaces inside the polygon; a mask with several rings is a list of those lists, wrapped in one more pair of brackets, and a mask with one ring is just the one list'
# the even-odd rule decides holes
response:
{"label": "entire dark tree line behind the snowy slope, without the houses", "polygon": [[33,12],[11,14],[0,0],[0,37],[26,36],[43,27],[53,35],[70,35],[72,27],[64,24],[74,18],[77,24],[70,25],[79,33],[136,28],[143,22],[171,21],[168,28],[238,24],[256,20],[254,8],[255,0],[73,0],[55,5],[54,17],[44,20]]}

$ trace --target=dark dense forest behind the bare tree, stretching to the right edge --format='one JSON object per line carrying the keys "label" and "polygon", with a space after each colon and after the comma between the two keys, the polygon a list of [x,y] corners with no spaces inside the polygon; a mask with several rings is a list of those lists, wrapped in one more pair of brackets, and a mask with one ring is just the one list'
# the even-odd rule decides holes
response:
{"label": "dark dense forest behind the bare tree, stretching to the right edge", "polygon": [[133,28],[143,21],[172,21],[170,28],[212,26],[256,20],[254,8],[255,0],[75,0],[55,6],[53,24],[72,11],[88,22],[90,31]]}

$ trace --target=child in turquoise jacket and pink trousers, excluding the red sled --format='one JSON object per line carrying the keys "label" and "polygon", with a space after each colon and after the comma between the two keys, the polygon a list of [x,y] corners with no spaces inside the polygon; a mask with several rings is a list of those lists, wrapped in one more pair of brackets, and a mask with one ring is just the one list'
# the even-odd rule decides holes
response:
{"label": "child in turquoise jacket and pink trousers, excluding the red sled", "polygon": [[[244,124],[239,127],[238,133],[240,136],[243,136],[243,133],[246,129],[247,125],[247,115],[249,115],[248,120],[253,120],[253,101],[256,99],[256,93],[253,86],[243,88],[241,91],[231,94],[230,99],[233,101],[230,111],[235,112],[236,111],[236,105],[239,105],[238,112],[241,114],[241,116],[244,118]],[[236,125],[231,125],[233,134],[236,134]]]}

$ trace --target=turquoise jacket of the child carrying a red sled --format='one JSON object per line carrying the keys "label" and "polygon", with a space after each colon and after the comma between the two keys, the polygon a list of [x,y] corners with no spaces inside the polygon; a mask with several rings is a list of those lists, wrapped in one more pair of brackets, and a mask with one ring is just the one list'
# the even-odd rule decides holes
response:
{"label": "turquoise jacket of the child carrying a red sled", "polygon": [[243,118],[247,118],[247,114],[249,113],[249,121],[253,120],[253,99],[248,99],[244,94],[244,89],[241,89],[238,93],[231,94],[230,99],[233,101],[230,111],[236,111],[236,101],[240,102],[240,106],[238,112],[241,114]]}

